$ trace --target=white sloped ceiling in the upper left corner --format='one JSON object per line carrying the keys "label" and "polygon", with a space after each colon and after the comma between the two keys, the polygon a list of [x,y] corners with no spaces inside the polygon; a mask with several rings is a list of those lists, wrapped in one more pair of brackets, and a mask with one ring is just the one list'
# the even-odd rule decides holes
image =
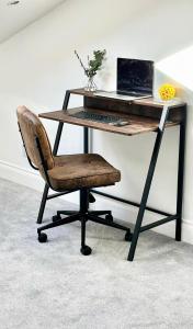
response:
{"label": "white sloped ceiling in the upper left corner", "polygon": [[64,2],[64,0],[20,0],[8,5],[10,0],[0,0],[0,43]]}

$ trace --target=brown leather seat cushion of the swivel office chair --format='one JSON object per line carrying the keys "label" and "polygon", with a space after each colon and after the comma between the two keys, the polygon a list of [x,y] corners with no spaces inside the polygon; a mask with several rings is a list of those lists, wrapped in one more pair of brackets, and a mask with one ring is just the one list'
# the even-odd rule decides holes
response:
{"label": "brown leather seat cushion of the swivel office chair", "polygon": [[113,185],[121,180],[120,170],[95,154],[57,156],[54,161],[48,177],[57,191]]}

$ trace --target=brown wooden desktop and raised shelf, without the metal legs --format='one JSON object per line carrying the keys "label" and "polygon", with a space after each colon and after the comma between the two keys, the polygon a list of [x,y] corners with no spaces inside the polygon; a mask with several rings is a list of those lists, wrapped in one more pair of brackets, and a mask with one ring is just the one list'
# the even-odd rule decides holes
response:
{"label": "brown wooden desktop and raised shelf, without the metal legs", "polygon": [[[68,123],[72,125],[89,127],[93,129],[104,131],[109,133],[115,133],[126,136],[143,134],[147,132],[157,132],[159,126],[159,117],[162,111],[162,104],[155,102],[152,99],[136,100],[134,102],[112,100],[101,97],[95,97],[94,93],[86,92],[82,89],[75,89],[70,91],[71,94],[80,94],[84,97],[84,106],[54,111],[47,113],[41,113],[39,116],[52,121],[61,123]],[[174,126],[182,120],[181,109],[184,106],[183,103],[180,105],[171,106],[172,112],[169,122],[166,126]],[[151,109],[149,109],[151,107]],[[79,111],[93,112],[96,114],[116,115],[128,121],[129,124],[124,127],[111,126],[105,123],[93,122],[89,120],[81,120],[70,116]]]}

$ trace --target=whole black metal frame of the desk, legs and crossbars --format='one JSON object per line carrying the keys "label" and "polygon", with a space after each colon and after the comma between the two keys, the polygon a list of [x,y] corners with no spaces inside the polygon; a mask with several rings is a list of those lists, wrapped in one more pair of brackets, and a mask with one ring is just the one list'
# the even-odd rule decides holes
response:
{"label": "whole black metal frame of the desk, legs and crossbars", "polygon": [[[66,111],[68,109],[69,98],[70,98],[70,90],[67,90],[66,95],[65,95],[65,100],[64,100],[64,104],[63,104],[63,110],[64,111]],[[92,193],[95,193],[95,194],[99,194],[99,195],[102,195],[102,196],[105,196],[105,197],[110,197],[112,200],[129,204],[132,206],[137,206],[139,208],[137,219],[136,219],[136,224],[135,224],[135,228],[134,228],[134,232],[132,235],[132,243],[130,243],[128,258],[127,258],[128,261],[134,260],[135,250],[136,250],[139,234],[143,232],[143,231],[146,231],[148,229],[151,229],[154,227],[163,225],[163,224],[169,223],[171,220],[175,220],[175,240],[181,241],[186,105],[183,105],[183,111],[184,111],[183,120],[179,123],[180,139],[179,139],[178,189],[177,189],[177,212],[175,212],[175,214],[169,214],[167,212],[147,206],[147,201],[148,201],[149,191],[150,191],[150,186],[151,186],[151,182],[152,182],[152,178],[154,178],[154,173],[155,173],[155,169],[156,169],[156,164],[157,164],[157,160],[158,160],[158,156],[159,156],[159,150],[160,150],[160,147],[161,147],[162,137],[163,137],[163,134],[164,134],[164,128],[166,128],[167,120],[168,120],[169,112],[170,112],[170,106],[169,105],[164,105],[163,109],[162,109],[162,113],[161,113],[161,117],[160,117],[160,122],[159,122],[159,127],[156,132],[155,146],[154,146],[154,149],[152,149],[152,155],[151,155],[151,159],[150,159],[150,163],[149,163],[149,168],[148,168],[147,178],[146,178],[146,181],[145,181],[145,186],[144,186],[144,191],[143,191],[143,194],[141,194],[140,203],[136,203],[136,202],[133,202],[133,201],[129,201],[129,200],[116,197],[114,195],[106,194],[106,193],[103,193],[103,192],[100,192],[100,191],[95,191],[93,189],[90,190],[90,192],[92,192]],[[59,122],[55,144],[54,144],[54,149],[53,149],[54,155],[57,155],[57,151],[58,151],[59,141],[60,141],[60,138],[61,138],[61,133],[63,133],[63,127],[64,127],[64,123]],[[89,128],[88,127],[83,127],[83,152],[84,154],[89,152]],[[43,214],[44,214],[44,209],[45,209],[45,205],[46,205],[47,200],[50,200],[50,198],[57,197],[59,195],[70,193],[70,191],[66,191],[64,193],[55,193],[53,195],[48,195],[48,190],[49,190],[49,186],[46,184],[45,188],[44,188],[42,203],[41,203],[41,207],[39,207],[39,212],[38,212],[37,224],[42,223],[42,218],[43,218]],[[164,218],[143,226],[143,219],[144,219],[144,214],[145,214],[146,209],[149,211],[149,212],[159,214],[159,215],[163,215]]]}

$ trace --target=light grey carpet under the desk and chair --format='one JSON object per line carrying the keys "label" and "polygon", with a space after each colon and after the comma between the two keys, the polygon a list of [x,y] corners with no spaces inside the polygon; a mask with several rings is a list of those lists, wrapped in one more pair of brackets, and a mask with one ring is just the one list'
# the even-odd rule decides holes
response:
{"label": "light grey carpet under the desk and chair", "polygon": [[[0,180],[0,329],[193,328],[193,247],[143,234],[135,262],[123,232],[71,224],[36,240],[41,194]],[[63,201],[48,203],[45,223]]]}

